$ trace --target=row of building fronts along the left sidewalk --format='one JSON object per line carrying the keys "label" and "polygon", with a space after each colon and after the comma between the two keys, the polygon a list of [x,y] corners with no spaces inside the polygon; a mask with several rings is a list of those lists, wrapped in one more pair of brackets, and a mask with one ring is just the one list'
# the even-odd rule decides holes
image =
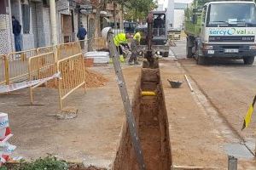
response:
{"label": "row of building fronts along the left sidewalk", "polygon": [[[101,12],[100,26],[95,25],[96,10],[80,13],[78,10],[79,5],[90,6],[90,1],[55,1],[58,43],[76,41],[76,34],[81,24],[88,31],[88,37],[95,37],[95,27],[102,29],[105,26],[109,26],[109,21],[113,21],[113,6],[111,3],[107,4],[106,10]],[[8,54],[15,51],[12,16],[15,16],[21,25],[22,50],[46,47],[52,44],[49,0],[1,0],[0,54]],[[116,20],[122,23],[120,18],[122,18],[122,15],[118,7]]]}

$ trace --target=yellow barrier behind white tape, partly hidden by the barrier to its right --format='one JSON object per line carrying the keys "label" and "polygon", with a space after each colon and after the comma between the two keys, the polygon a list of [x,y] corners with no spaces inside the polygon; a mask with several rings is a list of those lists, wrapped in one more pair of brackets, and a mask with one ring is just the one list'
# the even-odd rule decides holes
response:
{"label": "yellow barrier behind white tape, partly hidden by the barrier to its right", "polygon": [[12,82],[20,82],[27,79],[28,75],[28,62],[27,60],[38,54],[38,50],[31,49],[26,51],[9,53],[7,55],[8,63],[5,65],[7,68],[5,69],[6,75],[6,84],[10,84]]}

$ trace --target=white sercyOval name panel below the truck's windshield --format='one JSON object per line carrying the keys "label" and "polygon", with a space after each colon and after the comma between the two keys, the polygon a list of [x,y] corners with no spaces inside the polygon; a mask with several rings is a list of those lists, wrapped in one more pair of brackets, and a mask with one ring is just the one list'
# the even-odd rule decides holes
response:
{"label": "white sercyOval name panel below the truck's windshield", "polygon": [[210,36],[254,35],[253,30],[247,28],[210,28]]}

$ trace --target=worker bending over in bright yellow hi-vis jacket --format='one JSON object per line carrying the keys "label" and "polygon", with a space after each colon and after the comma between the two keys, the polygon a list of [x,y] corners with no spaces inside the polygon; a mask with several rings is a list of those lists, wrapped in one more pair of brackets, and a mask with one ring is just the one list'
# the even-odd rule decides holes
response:
{"label": "worker bending over in bright yellow hi-vis jacket", "polygon": [[128,46],[128,39],[131,38],[131,35],[128,33],[119,33],[115,37],[113,37],[114,45],[116,46],[117,50],[119,51],[119,58],[121,61],[124,60],[123,50],[121,46],[125,48],[129,48]]}

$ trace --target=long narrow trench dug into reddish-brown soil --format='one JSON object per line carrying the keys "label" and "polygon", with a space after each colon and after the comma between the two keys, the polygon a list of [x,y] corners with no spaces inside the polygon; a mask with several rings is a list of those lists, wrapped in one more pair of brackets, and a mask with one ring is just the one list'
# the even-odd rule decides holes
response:
{"label": "long narrow trench dug into reddish-brown soil", "polygon": [[[142,96],[142,91],[154,91],[155,95]],[[132,109],[137,122],[146,169],[171,169],[172,155],[169,124],[158,63],[154,65],[153,69],[148,68],[146,62],[143,64],[132,100]],[[126,122],[123,125],[113,169],[139,169]]]}

